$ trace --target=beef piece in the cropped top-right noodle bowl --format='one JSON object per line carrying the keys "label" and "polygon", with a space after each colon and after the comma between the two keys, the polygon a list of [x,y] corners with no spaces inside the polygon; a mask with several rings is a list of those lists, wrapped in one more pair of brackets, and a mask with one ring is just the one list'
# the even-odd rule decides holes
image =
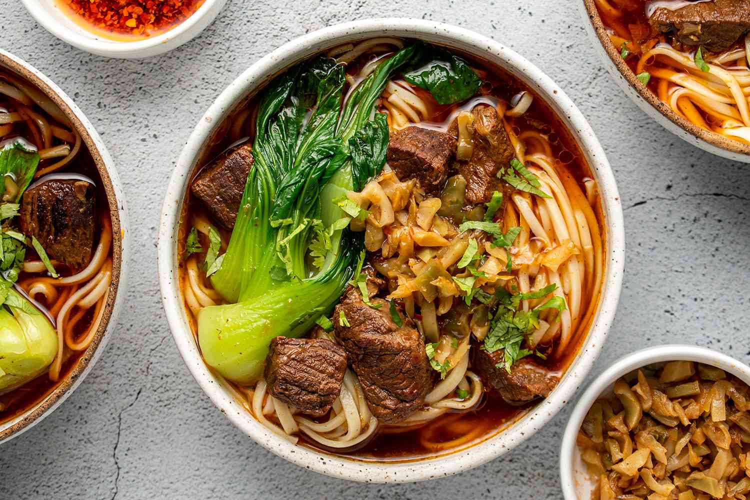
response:
{"label": "beef piece in the cropped top-right noodle bowl", "polygon": [[750,31],[750,1],[700,1],[676,10],[659,7],[649,22],[656,31],[673,33],[686,46],[702,45],[721,52]]}

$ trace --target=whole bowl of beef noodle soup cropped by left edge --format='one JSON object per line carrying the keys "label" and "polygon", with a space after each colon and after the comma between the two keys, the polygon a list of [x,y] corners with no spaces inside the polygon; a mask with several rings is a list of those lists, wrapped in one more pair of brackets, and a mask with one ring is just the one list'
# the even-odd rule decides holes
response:
{"label": "whole bowl of beef noodle soup cropped by left edge", "polygon": [[83,112],[0,50],[0,442],[83,382],[125,286],[127,212],[113,160]]}

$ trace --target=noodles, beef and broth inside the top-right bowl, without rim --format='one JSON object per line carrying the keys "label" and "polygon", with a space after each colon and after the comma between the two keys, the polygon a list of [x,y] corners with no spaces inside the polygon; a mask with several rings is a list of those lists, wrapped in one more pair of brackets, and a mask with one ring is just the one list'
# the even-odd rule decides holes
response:
{"label": "noodles, beef and broth inside the top-right bowl, without rim", "polygon": [[750,2],[595,4],[622,58],[673,112],[750,145]]}

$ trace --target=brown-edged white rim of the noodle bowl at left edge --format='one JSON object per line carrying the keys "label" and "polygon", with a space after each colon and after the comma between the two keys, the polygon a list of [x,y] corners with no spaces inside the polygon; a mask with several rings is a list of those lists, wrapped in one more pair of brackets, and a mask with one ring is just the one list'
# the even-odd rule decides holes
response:
{"label": "brown-edged white rim of the noodle bowl at left edge", "polygon": [[[21,433],[38,424],[47,415],[54,411],[73,391],[83,382],[89,371],[94,367],[96,361],[104,352],[124,301],[124,292],[127,290],[127,264],[129,262],[129,240],[127,235],[127,208],[124,194],[121,190],[121,182],[115,169],[112,157],[110,157],[101,136],[94,126],[86,118],[86,115],[74,103],[65,91],[62,91],[52,80],[47,78],[35,67],[21,58],[0,49],[0,67],[5,67],[11,73],[26,79],[37,89],[46,94],[47,97],[65,113],[75,129],[81,135],[86,148],[94,159],[95,166],[104,184],[107,202],[110,205],[110,218],[113,228],[113,274],[110,284],[110,297],[104,308],[104,316],[99,325],[91,345],[83,352],[77,365],[65,376],[50,393],[39,403],[27,409],[23,414],[13,418],[12,424],[0,425],[0,443],[20,436]],[[7,427],[5,427],[7,426]]]}

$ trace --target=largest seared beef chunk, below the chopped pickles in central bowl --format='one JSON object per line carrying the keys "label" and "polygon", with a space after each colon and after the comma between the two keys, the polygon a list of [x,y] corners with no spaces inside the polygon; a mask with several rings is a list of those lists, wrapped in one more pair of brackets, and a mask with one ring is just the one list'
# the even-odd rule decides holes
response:
{"label": "largest seared beef chunk, below the chopped pickles in central bowl", "polygon": [[[432,388],[432,373],[425,354],[425,340],[408,319],[398,327],[389,303],[380,298],[365,305],[350,288],[334,311],[336,338],[349,355],[359,384],[373,415],[381,422],[403,421],[425,404]],[[341,326],[344,313],[351,326]]]}

